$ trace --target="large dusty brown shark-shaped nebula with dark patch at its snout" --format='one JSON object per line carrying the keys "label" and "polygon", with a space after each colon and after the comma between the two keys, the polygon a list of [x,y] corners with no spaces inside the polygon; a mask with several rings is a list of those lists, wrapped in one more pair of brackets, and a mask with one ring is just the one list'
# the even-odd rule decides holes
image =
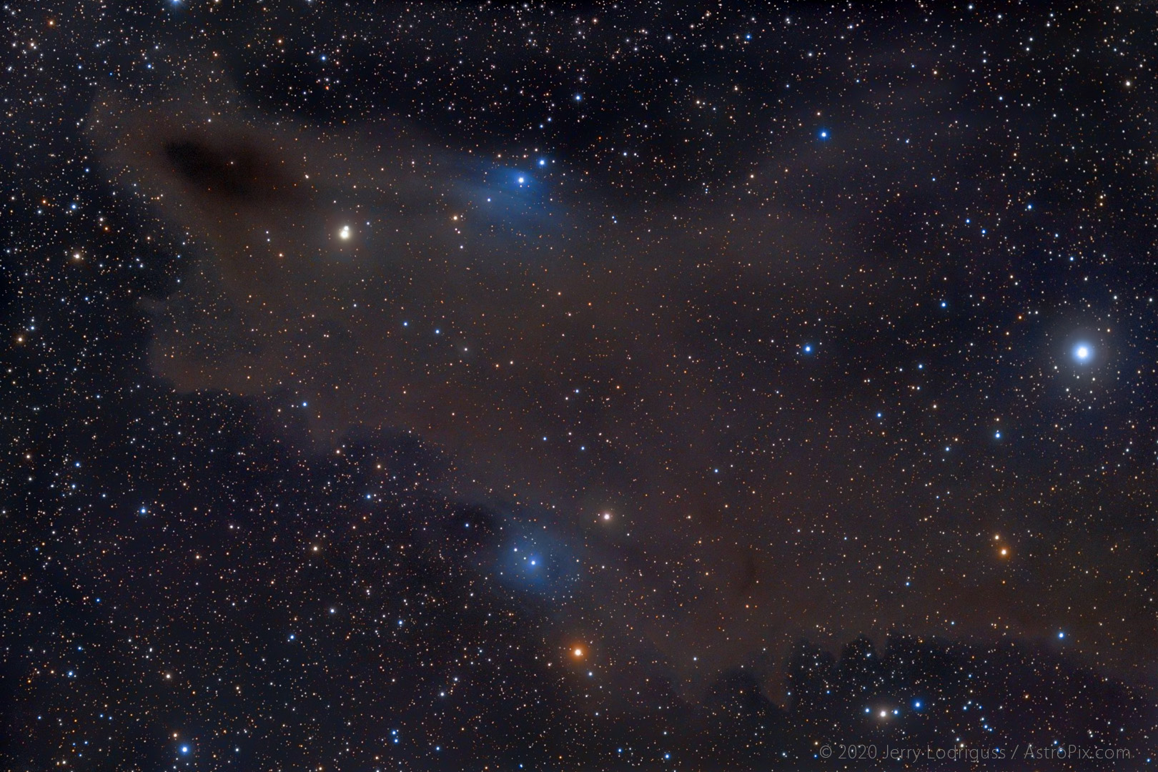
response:
{"label": "large dusty brown shark-shaped nebula with dark patch at its snout", "polygon": [[[119,188],[195,242],[151,306],[152,362],[177,389],[305,403],[318,447],[353,427],[418,434],[456,465],[459,495],[549,510],[614,556],[593,613],[681,669],[691,650],[720,666],[800,634],[944,632],[933,582],[970,596],[955,571],[897,602],[899,573],[968,558],[906,525],[899,488],[866,501],[897,472],[856,436],[862,380],[805,370],[793,347],[821,313],[871,334],[936,265],[853,250],[840,234],[865,226],[848,214],[688,205],[630,228],[589,201],[496,214],[461,159],[405,126],[339,134],[204,106],[235,102],[105,94],[88,122]],[[602,510],[613,525],[592,525]],[[903,529],[903,558],[877,541]],[[1024,606],[988,597],[955,631]]]}

